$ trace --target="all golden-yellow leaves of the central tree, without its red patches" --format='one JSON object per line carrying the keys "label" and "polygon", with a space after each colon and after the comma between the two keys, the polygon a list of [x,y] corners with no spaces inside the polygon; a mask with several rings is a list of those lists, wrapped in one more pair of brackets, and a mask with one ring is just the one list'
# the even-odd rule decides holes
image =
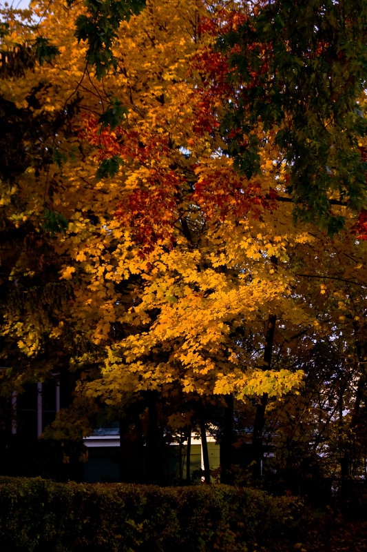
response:
{"label": "all golden-yellow leaves of the central tree, without its red patches", "polygon": [[[284,166],[275,162],[279,160],[275,135],[262,148],[262,174],[248,181],[233,171],[233,160],[222,153],[218,132],[201,136],[193,132],[198,86],[204,85],[200,75],[189,74],[187,68],[202,48],[201,38],[193,40],[193,27],[205,15],[205,3],[154,0],[150,6],[151,10],[121,24],[115,44],[120,69],[103,82],[105,90],[129,108],[123,128],[110,135],[123,156],[123,166],[113,179],[96,183],[97,150],[79,139],[72,144],[65,139],[60,144],[67,152],[62,178],[57,180],[56,166],[52,169],[52,179],[58,182],[54,205],[62,206],[70,219],[67,234],[57,245],[65,265],[61,278],[70,280],[72,286],[78,275],[68,314],[86,339],[105,354],[98,390],[104,387],[111,403],[120,400],[123,392],[167,384],[187,393],[281,396],[297,387],[302,374],[260,369],[259,355],[251,356],[244,342],[251,332],[254,349],[261,351],[270,312],[284,322],[279,335],[285,342],[291,330],[296,328],[297,333],[302,324],[313,324],[313,331],[321,332],[311,307],[299,298],[305,296],[303,286],[313,297],[326,296],[318,297],[319,304],[324,299],[335,302],[332,288],[323,284],[318,288],[319,281],[302,284],[295,276],[310,266],[310,259],[317,266],[313,250],[317,240],[304,226],[293,228],[291,208],[285,203],[274,211],[262,206],[255,215],[251,211],[269,190],[285,194]],[[62,3],[54,2],[50,9],[42,26],[51,41],[60,44],[61,61],[36,68],[36,76],[31,75],[57,85],[39,97],[45,110],[63,107],[85,68],[85,48],[77,47],[73,37],[75,17],[83,6],[64,12]],[[62,37],[60,27],[65,31]],[[27,90],[12,91],[19,105],[31,85],[29,80]],[[92,76],[83,79],[81,105],[98,113],[105,90]],[[216,101],[213,111],[220,115],[221,110]],[[133,132],[135,141],[130,136]],[[264,136],[261,125],[257,132],[260,138]],[[72,160],[75,150],[76,155],[83,152],[83,162],[81,157]],[[153,197],[154,190],[165,185],[164,180],[156,182],[159,170],[165,175],[172,170],[182,177],[174,192],[179,199],[172,207],[176,241],[171,250],[167,244],[155,243],[142,258],[132,239],[134,228],[123,228],[113,213],[116,204],[127,201],[136,190]],[[43,201],[45,179],[40,186],[34,174],[26,177],[39,186]],[[227,190],[223,182],[229,185]],[[193,201],[192,192],[200,186],[202,195]],[[32,196],[34,188],[27,189]],[[233,215],[239,202],[233,190],[240,190],[240,197],[249,196],[249,209],[241,217]],[[3,193],[0,204],[10,205],[11,195]],[[219,198],[218,204],[222,201],[220,216],[215,212],[216,202],[211,201],[213,195]],[[137,212],[142,209],[140,204],[132,205]],[[31,215],[37,208],[34,202]],[[218,215],[213,223],[211,215]],[[21,222],[20,218],[17,224]],[[276,268],[271,257],[277,259]],[[362,266],[358,263],[355,270]],[[341,303],[339,311],[344,313],[346,302]],[[117,340],[115,328],[127,337]],[[57,339],[62,333],[59,324],[50,336]],[[18,342],[26,354],[31,351],[32,344],[23,334]]]}

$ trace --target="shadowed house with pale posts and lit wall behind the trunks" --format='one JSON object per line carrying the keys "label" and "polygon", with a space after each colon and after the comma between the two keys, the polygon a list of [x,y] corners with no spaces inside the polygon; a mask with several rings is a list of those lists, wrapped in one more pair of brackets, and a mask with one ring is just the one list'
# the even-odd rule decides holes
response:
{"label": "shadowed house with pale posts and lit wall behind the trunks", "polygon": [[[56,479],[76,479],[86,482],[120,480],[120,428],[118,424],[99,427],[83,443],[39,440],[46,426],[52,423],[63,406],[60,382],[55,377],[47,383],[29,384],[25,393],[12,393],[3,400],[3,427],[0,473],[9,475],[44,475]],[[212,470],[220,466],[220,446],[207,435],[209,464]],[[62,450],[63,449],[63,450]],[[83,454],[83,449],[86,453]],[[167,449],[167,481],[187,479],[187,441],[171,442]],[[71,451],[71,452],[70,452]],[[83,457],[83,462],[79,460]],[[65,462],[65,458],[67,461]],[[193,434],[190,446],[189,476],[200,480],[204,469],[200,437]]]}

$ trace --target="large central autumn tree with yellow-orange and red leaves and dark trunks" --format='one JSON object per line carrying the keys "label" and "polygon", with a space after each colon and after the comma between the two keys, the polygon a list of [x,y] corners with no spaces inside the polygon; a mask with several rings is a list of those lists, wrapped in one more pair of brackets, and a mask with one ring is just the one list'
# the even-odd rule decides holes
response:
{"label": "large central autumn tree with yellow-orange and red leaves and dark trunks", "polygon": [[[106,9],[112,5],[103,4]],[[207,403],[217,399],[226,420],[220,438],[223,449],[230,450],[233,400],[242,401],[255,427],[258,477],[273,403],[291,390],[297,397],[302,384],[303,366],[280,359],[297,355],[301,338],[305,349],[312,348],[315,339],[332,336],[340,327],[337,298],[349,308],[359,288],[348,295],[336,284],[348,284],[355,263],[350,259],[359,259],[356,266],[364,263],[365,248],[358,239],[363,221],[339,195],[330,195],[326,203],[333,205],[333,220],[343,217],[346,230],[331,239],[302,221],[293,224],[289,175],[294,164],[280,132],[287,121],[297,122],[297,113],[287,112],[288,119],[268,113],[270,119],[262,120],[246,100],[240,117],[250,117],[249,122],[229,128],[229,114],[244,90],[255,101],[264,75],[273,74],[273,68],[262,72],[255,65],[249,83],[233,75],[238,33],[264,23],[260,12],[235,2],[148,1],[139,14],[112,26],[102,50],[107,57],[94,59],[88,57],[94,27],[87,32],[81,21],[86,25],[93,10],[98,25],[105,21],[98,6],[39,2],[34,9],[43,15],[41,36],[58,48],[59,56],[17,81],[17,101],[26,101],[29,90],[43,81],[47,88],[37,92],[37,109],[54,114],[72,105],[75,109],[68,131],[52,137],[45,170],[19,177],[17,190],[28,195],[15,216],[39,220],[45,194],[52,196],[50,212],[67,221],[65,233],[47,237],[54,255],[52,277],[70,292],[63,294],[67,301],[52,324],[35,324],[29,310],[14,315],[9,309],[6,333],[12,346],[25,344],[31,373],[45,342],[39,335],[51,337],[56,351],[72,335],[63,358],[67,370],[80,376],[79,404],[92,411],[103,404],[120,417],[127,433],[135,426],[136,436],[142,437],[138,425],[144,422],[149,451],[164,442],[167,420],[172,431],[196,424],[204,435]],[[222,34],[235,37],[233,51],[218,51]],[[263,42],[264,37],[253,38],[249,52],[254,59]],[[270,48],[271,63],[278,55]],[[363,101],[360,107],[363,111]],[[315,110],[311,97],[309,109]],[[331,128],[330,136],[339,132]],[[342,152],[356,145],[353,140],[346,140]],[[233,170],[233,157],[239,155],[256,170],[242,161],[242,171]],[[300,155],[306,171],[302,178],[312,165],[307,156]],[[364,170],[362,164],[359,169]],[[318,206],[317,213],[320,219],[326,216]],[[329,282],[335,287],[326,287]],[[330,300],[324,304],[326,289]],[[363,304],[361,299],[355,316],[364,312]],[[357,351],[354,337],[349,331],[346,342]],[[363,362],[361,356],[359,366]],[[171,397],[178,397],[176,416],[162,408]],[[61,420],[71,428],[65,415],[70,411]],[[149,462],[159,464],[153,452]],[[230,453],[223,463],[229,471]]]}

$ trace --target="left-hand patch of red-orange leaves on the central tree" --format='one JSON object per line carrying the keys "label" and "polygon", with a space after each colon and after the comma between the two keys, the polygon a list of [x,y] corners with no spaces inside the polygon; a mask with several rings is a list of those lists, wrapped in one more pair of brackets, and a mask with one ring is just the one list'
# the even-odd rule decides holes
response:
{"label": "left-hand patch of red-orange leaves on the central tree", "polygon": [[179,190],[185,179],[169,168],[167,136],[129,128],[98,132],[93,116],[84,119],[81,135],[98,147],[102,159],[113,155],[122,159],[125,186],[121,186],[115,216],[122,226],[131,228],[143,254],[159,240],[172,244]]}

